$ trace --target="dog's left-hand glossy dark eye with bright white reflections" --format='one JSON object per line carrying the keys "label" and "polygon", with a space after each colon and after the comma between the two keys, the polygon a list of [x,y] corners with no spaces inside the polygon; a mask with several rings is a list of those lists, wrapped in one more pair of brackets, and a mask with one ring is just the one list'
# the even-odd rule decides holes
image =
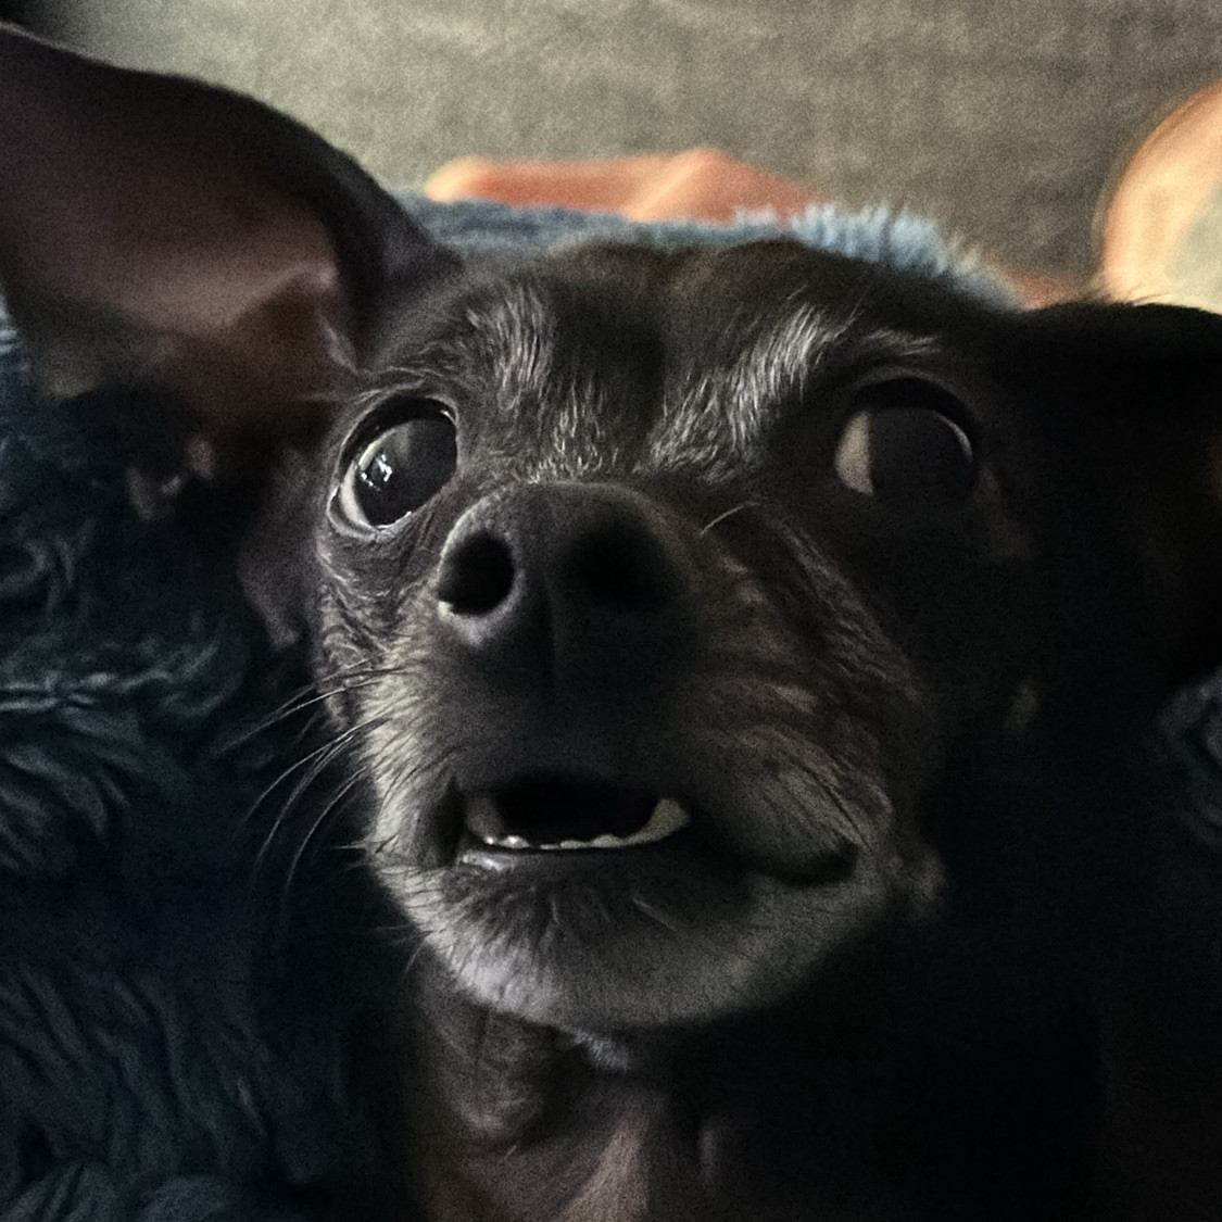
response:
{"label": "dog's left-hand glossy dark eye with bright white reflections", "polygon": [[348,463],[338,507],[357,525],[390,525],[440,491],[457,461],[453,420],[441,404],[419,400]]}

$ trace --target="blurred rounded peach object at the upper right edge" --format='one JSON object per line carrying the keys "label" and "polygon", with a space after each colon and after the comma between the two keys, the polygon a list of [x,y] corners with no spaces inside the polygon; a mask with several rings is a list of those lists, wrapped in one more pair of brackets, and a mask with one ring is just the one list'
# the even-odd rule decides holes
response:
{"label": "blurred rounded peach object at the upper right edge", "polygon": [[1222,82],[1146,138],[1105,202],[1100,227],[1110,297],[1222,310]]}

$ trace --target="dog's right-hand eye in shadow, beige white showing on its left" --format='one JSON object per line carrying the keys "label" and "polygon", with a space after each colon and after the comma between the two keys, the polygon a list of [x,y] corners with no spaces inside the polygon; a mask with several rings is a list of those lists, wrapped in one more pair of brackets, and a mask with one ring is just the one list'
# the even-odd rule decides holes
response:
{"label": "dog's right-hand eye in shadow, beige white showing on its left", "polygon": [[975,484],[971,441],[954,422],[959,401],[920,378],[862,386],[841,430],[836,474],[854,492],[893,508],[949,510]]}

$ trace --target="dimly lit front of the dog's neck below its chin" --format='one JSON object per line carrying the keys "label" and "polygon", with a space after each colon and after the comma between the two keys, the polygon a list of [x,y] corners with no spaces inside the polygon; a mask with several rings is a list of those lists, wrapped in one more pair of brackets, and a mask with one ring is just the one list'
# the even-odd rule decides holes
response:
{"label": "dimly lit front of the dog's neck below its chin", "polygon": [[430,993],[404,1100],[428,1222],[719,1216],[701,1176],[705,1124],[661,1047]]}

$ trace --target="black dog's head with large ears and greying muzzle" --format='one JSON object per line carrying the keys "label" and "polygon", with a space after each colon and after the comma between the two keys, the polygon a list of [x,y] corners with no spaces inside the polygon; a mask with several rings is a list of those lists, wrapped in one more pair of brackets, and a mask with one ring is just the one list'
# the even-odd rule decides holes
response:
{"label": "black dog's head with large ears and greying muzzle", "polygon": [[159,389],[182,467],[260,494],[254,601],[484,1004],[778,1002],[1004,855],[998,776],[1080,781],[1212,657],[1212,318],[788,241],[463,263],[244,99],[11,34],[0,67],[45,376]]}

